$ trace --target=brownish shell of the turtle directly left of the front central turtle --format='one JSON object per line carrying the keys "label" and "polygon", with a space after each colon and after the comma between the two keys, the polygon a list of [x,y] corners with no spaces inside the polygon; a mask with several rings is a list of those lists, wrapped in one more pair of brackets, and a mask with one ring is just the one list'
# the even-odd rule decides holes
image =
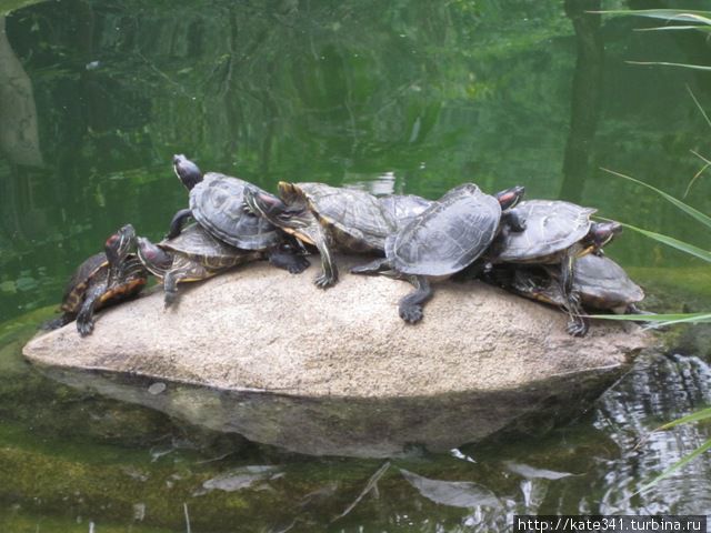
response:
{"label": "brownish shell of the turtle directly left of the front central turtle", "polygon": [[384,249],[394,223],[375,197],[358,189],[323,183],[297,183],[296,187],[340,248],[353,252]]}

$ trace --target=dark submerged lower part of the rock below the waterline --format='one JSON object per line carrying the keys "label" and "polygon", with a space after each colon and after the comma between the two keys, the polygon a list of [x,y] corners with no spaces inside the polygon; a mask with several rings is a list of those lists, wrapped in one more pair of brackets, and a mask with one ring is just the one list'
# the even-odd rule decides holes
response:
{"label": "dark submerged lower part of the rock below the waterline", "polygon": [[510,391],[393,399],[300,398],[86,369],[41,370],[72,386],[292,452],[392,457],[442,453],[502,431],[542,434],[589,409],[625,366],[565,373]]}

